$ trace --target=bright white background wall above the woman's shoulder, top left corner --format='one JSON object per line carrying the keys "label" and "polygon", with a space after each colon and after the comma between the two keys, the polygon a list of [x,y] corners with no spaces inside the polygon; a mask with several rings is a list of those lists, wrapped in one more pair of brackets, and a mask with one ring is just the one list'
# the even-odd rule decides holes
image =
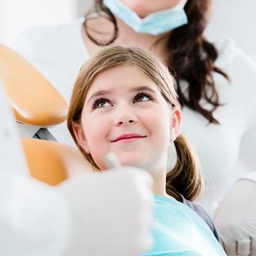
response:
{"label": "bright white background wall above the woman's shoulder, top left corner", "polygon": [[74,0],[0,0],[0,42],[8,44],[23,29],[68,22],[76,15]]}

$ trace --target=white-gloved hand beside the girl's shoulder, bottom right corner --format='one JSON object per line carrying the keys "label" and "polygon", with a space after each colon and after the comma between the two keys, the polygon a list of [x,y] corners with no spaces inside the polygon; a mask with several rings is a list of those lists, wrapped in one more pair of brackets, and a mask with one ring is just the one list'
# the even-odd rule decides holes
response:
{"label": "white-gloved hand beside the girl's shoulder, bottom right corner", "polygon": [[221,201],[214,223],[228,256],[255,256],[256,183],[237,181]]}

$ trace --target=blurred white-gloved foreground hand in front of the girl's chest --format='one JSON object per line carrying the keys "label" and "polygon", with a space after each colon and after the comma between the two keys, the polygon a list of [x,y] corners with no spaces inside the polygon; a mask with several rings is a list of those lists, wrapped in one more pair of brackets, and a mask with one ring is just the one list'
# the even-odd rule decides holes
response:
{"label": "blurred white-gloved foreground hand in front of the girl's chest", "polygon": [[65,255],[138,255],[153,243],[152,178],[133,167],[84,175],[58,186],[70,206]]}

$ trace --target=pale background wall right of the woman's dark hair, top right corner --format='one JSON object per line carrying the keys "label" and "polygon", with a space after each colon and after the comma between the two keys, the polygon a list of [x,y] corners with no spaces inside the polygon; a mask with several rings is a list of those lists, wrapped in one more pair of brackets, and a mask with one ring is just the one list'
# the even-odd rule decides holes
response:
{"label": "pale background wall right of the woman's dark hair, top right corner", "polygon": [[212,2],[212,17],[205,35],[211,40],[231,36],[236,40],[236,44],[256,61],[256,1]]}

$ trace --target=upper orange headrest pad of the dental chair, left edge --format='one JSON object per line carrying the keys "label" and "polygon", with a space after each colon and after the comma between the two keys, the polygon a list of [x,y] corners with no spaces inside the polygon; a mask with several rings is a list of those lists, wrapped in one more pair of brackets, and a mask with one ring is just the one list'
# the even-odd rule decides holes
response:
{"label": "upper orange headrest pad of the dental chair, left edge", "polygon": [[17,122],[47,127],[65,121],[65,99],[28,61],[1,44],[0,79]]}

